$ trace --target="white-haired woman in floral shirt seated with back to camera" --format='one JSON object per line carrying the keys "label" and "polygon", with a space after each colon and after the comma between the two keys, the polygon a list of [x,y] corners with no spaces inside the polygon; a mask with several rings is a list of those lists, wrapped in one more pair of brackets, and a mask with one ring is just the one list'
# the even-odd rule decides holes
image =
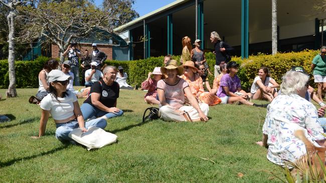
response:
{"label": "white-haired woman in floral shirt seated with back to camera", "polygon": [[[268,148],[267,158],[275,164],[285,165],[284,160],[295,162],[306,153],[303,141],[294,136],[297,129],[304,130],[305,136],[315,146],[324,142],[316,107],[304,98],[308,79],[304,73],[287,71],[283,76],[281,94],[267,106],[263,138],[257,144]],[[317,140],[321,141],[317,143]]]}

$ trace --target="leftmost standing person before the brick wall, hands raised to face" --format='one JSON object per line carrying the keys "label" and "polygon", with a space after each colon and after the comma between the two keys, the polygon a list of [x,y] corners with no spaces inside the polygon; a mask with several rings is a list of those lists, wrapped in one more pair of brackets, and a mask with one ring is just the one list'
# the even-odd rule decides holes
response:
{"label": "leftmost standing person before the brick wall, hands raised to face", "polygon": [[66,56],[68,54],[68,59],[71,62],[70,71],[74,74],[74,82],[75,86],[79,86],[79,56],[80,50],[77,49],[77,43],[71,43],[63,55]]}

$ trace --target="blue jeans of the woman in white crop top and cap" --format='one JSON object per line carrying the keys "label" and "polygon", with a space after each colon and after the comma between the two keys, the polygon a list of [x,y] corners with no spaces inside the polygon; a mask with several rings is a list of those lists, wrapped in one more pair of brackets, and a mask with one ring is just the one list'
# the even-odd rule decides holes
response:
{"label": "blue jeans of the woman in white crop top and cap", "polygon": [[[106,126],[106,120],[102,118],[92,119],[85,122],[85,127],[89,128],[91,126],[97,126],[102,129]],[[79,127],[77,119],[71,120],[69,122],[63,122],[63,123],[56,123],[56,137],[60,141],[71,141],[71,139],[68,134],[75,128]]]}

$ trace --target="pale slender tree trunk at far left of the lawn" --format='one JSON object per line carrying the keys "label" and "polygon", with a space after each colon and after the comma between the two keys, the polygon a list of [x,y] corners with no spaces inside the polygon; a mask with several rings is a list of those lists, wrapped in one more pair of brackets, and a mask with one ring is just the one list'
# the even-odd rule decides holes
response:
{"label": "pale slender tree trunk at far left of the lawn", "polygon": [[9,55],[8,55],[8,66],[9,66],[9,87],[6,92],[7,97],[16,97],[16,73],[15,73],[15,12],[9,10],[7,16],[8,26],[9,26]]}

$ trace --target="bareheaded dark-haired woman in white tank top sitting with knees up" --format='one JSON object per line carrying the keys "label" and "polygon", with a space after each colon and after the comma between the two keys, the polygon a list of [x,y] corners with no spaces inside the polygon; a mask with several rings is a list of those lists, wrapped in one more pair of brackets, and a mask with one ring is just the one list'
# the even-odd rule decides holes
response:
{"label": "bareheaded dark-haired woman in white tank top sitting with knees up", "polygon": [[265,66],[259,68],[258,76],[251,85],[252,99],[267,99],[272,101],[276,96],[276,88],[279,84],[271,78],[269,69]]}

